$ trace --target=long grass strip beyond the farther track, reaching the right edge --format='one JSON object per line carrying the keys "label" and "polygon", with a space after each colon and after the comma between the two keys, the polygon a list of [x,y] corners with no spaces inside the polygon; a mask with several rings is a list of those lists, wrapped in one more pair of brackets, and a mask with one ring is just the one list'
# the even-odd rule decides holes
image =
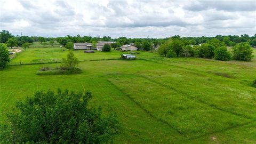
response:
{"label": "long grass strip beyond the farther track, reaching the right edge", "polygon": [[256,89],[236,79],[181,68],[140,71],[138,74],[189,99],[231,114],[256,119]]}

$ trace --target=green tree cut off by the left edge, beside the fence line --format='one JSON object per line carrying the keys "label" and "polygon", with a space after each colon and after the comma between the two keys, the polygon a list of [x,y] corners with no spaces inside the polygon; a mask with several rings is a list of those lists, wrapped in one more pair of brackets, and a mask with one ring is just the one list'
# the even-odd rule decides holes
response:
{"label": "green tree cut off by the left edge, beside the fence line", "polygon": [[4,43],[0,43],[0,70],[7,66],[10,62],[8,47]]}

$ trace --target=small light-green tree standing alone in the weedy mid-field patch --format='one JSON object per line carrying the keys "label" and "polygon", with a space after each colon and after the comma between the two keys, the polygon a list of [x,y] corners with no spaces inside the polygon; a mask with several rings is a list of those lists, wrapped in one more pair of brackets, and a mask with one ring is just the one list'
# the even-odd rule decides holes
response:
{"label": "small light-green tree standing alone in the weedy mid-field patch", "polygon": [[67,59],[62,59],[62,67],[67,69],[74,69],[78,65],[78,59],[72,51],[67,54]]}

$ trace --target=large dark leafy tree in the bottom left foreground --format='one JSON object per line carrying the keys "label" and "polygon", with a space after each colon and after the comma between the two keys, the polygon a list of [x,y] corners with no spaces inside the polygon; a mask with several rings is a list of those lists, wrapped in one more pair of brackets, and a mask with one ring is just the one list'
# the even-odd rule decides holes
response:
{"label": "large dark leafy tree in the bottom left foreground", "polygon": [[[88,106],[91,92],[39,91],[19,101],[19,113],[7,115],[3,143],[101,143],[117,134],[114,114],[102,117],[101,108]],[[8,125],[7,125],[8,124]]]}

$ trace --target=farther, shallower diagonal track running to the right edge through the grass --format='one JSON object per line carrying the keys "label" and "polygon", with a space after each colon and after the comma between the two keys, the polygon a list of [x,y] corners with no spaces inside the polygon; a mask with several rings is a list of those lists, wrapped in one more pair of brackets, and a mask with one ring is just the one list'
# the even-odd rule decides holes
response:
{"label": "farther, shallower diagonal track running to the right edge through the grass", "polygon": [[216,106],[214,106],[214,105],[210,105],[210,104],[208,104],[208,103],[206,103],[206,102],[204,102],[204,101],[202,101],[202,100],[192,99],[192,98],[190,98],[190,97],[187,97],[186,95],[189,95],[189,94],[184,93],[184,92],[181,92],[181,91],[175,89],[175,88],[172,87],[172,86],[169,86],[169,85],[165,85],[165,84],[156,82],[156,81],[154,81],[153,79],[150,79],[150,78],[148,78],[148,77],[146,77],[146,76],[143,76],[143,75],[136,75],[136,74],[134,74],[134,75],[135,75],[135,76],[142,77],[142,78],[145,78],[145,79],[147,79],[148,81],[153,82],[153,83],[158,84],[158,85],[161,85],[161,86],[163,86],[163,87],[166,87],[167,89],[173,90],[173,91],[179,93],[183,98],[189,99],[189,100],[194,101],[194,102],[197,102],[197,103],[202,103],[203,105],[205,105],[205,106],[207,106],[207,107],[211,107],[211,108],[213,108],[213,109],[215,109],[215,110],[220,110],[220,111],[223,111],[223,112],[228,113],[228,114],[232,114],[232,115],[236,115],[236,116],[239,116],[239,117],[242,117],[242,118],[246,118],[246,119],[252,120],[252,117],[245,116],[245,115],[242,115],[242,114],[237,114],[237,113],[234,113],[234,112],[232,112],[232,111],[227,111],[227,110],[225,110],[225,109],[216,107]]}

